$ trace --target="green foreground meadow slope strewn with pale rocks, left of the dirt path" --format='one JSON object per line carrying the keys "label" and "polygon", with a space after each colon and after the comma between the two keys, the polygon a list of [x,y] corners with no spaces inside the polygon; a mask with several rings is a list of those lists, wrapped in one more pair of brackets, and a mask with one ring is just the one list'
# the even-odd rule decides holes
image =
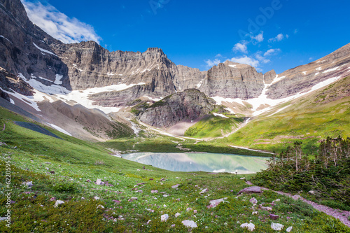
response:
{"label": "green foreground meadow slope strewn with pale rocks, left of the dirt path", "polygon": [[[281,199],[273,206],[272,213],[293,218],[279,218],[273,222],[286,227],[293,225],[295,232],[325,232],[334,227],[343,227],[334,218],[271,191],[235,198],[241,188],[248,187],[239,179],[241,176],[204,172],[188,174],[151,166],[143,170],[141,164],[112,157],[103,148],[55,130],[50,129],[64,140],[20,128],[12,121],[26,119],[8,113],[3,108],[0,108],[0,113],[1,125],[6,123],[6,130],[0,132],[0,141],[8,145],[0,146],[0,188],[2,191],[12,189],[11,199],[16,202],[11,205],[11,228],[2,221],[0,232],[187,232],[182,220],[194,220],[197,223],[198,228],[193,232],[246,232],[239,226],[250,220],[255,224],[256,232],[274,232],[270,228],[272,220],[268,218],[269,211],[259,210],[258,215],[251,215],[252,205],[248,202],[251,197],[258,199],[259,204]],[[4,183],[5,157],[11,158],[9,187]],[[46,167],[49,171],[55,171],[55,174],[49,174]],[[86,182],[87,179],[95,181],[97,178],[109,181],[114,186]],[[160,178],[165,178],[165,181],[160,181]],[[27,188],[22,185],[22,182],[27,181],[33,181],[34,186]],[[145,184],[135,187],[137,183]],[[181,184],[179,190],[171,188],[176,183]],[[136,192],[137,188],[143,192]],[[200,195],[202,188],[208,188],[209,191]],[[169,196],[151,194],[151,190],[167,192]],[[100,199],[94,200],[95,196]],[[64,200],[65,203],[54,208],[51,197]],[[130,202],[131,197],[138,199]],[[228,202],[207,209],[210,199],[222,197],[228,197]],[[178,198],[180,201],[176,201]],[[0,216],[4,216],[6,197],[3,195],[0,203]],[[106,209],[99,208],[99,204]],[[186,211],[188,207],[192,210]],[[181,216],[175,218],[176,212],[181,213]],[[164,213],[169,214],[167,222],[160,221]],[[123,216],[123,220],[119,220],[118,216]],[[151,222],[147,225],[148,220]],[[175,227],[171,227],[173,224]],[[344,232],[349,232],[344,229]]]}

